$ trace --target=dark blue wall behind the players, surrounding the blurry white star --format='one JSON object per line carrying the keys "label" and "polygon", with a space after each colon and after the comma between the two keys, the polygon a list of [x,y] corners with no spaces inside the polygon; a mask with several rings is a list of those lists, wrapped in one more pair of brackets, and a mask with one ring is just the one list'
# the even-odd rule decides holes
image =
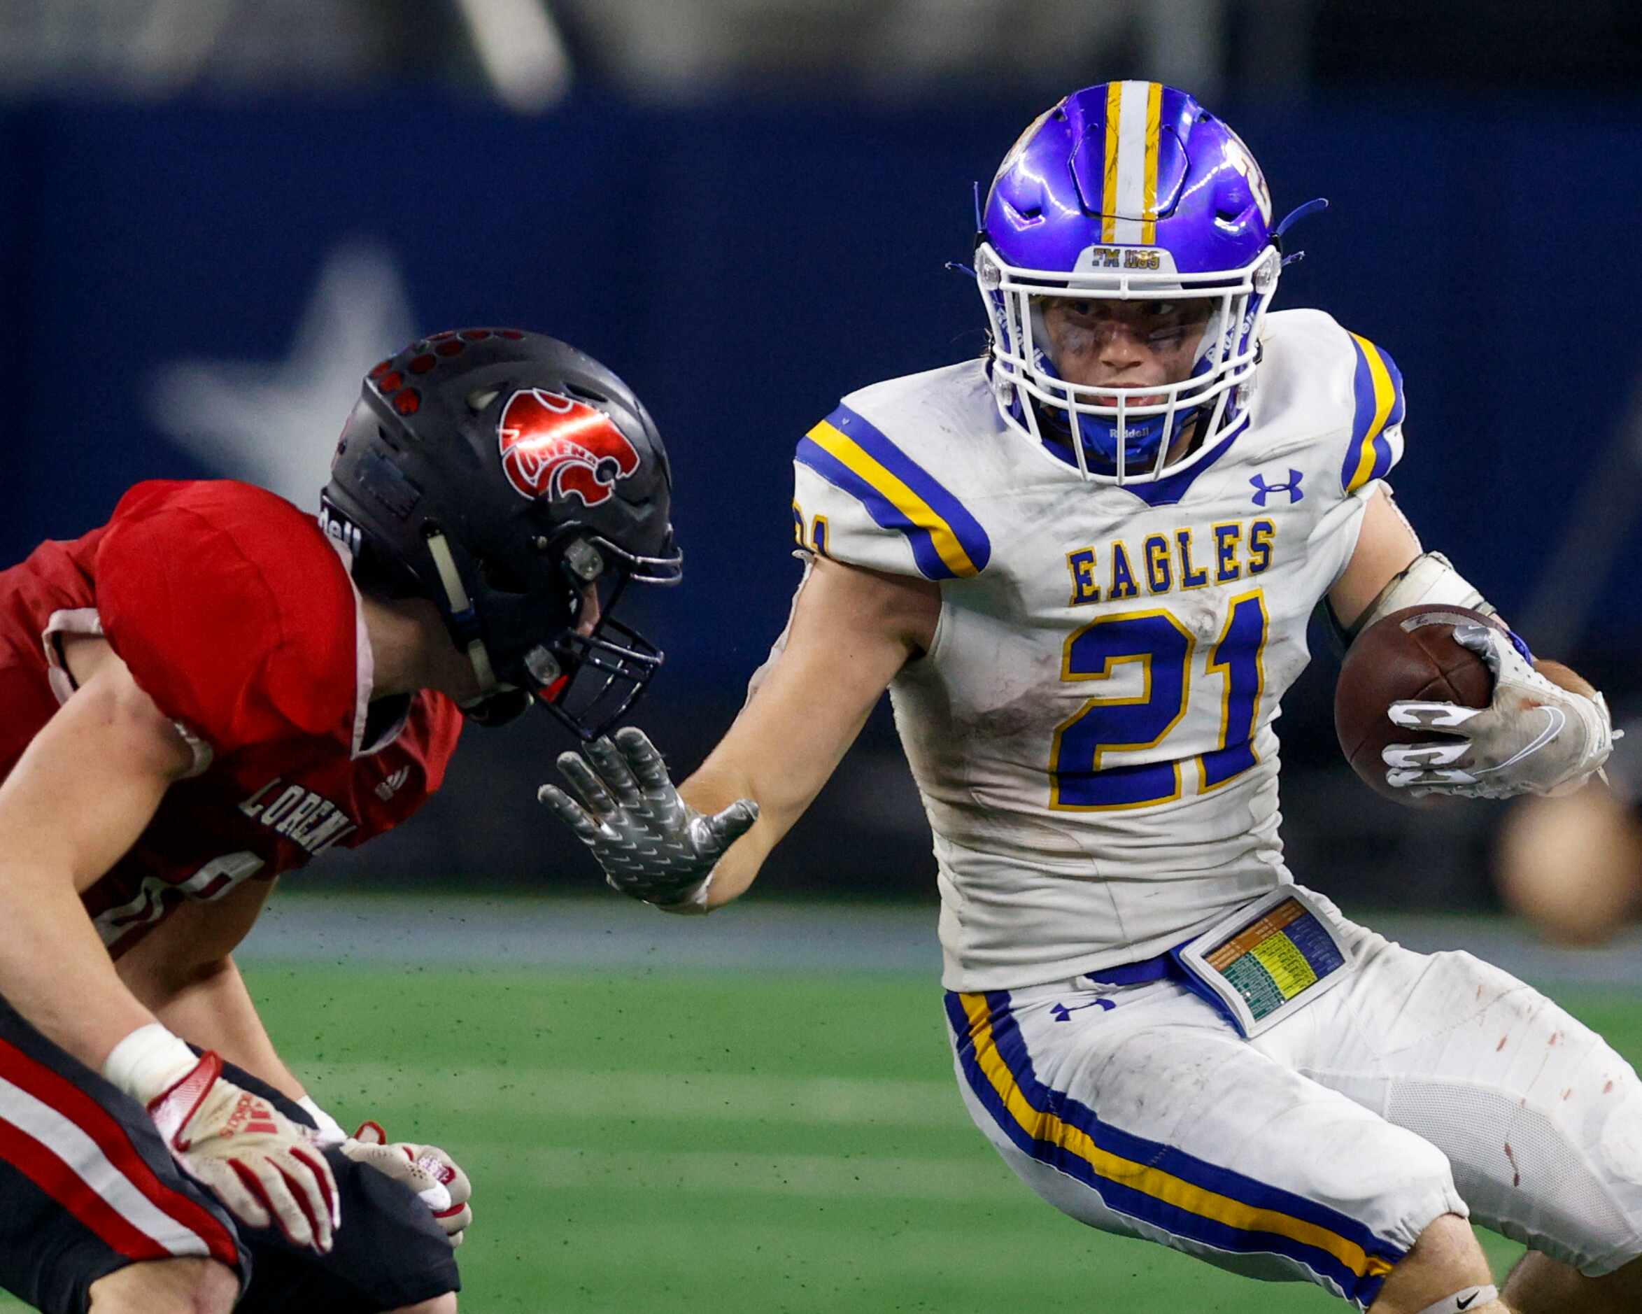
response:
{"label": "dark blue wall behind the players, surrounding the blurry white star", "polygon": [[[1279,214],[1332,202],[1296,232],[1307,258],[1277,306],[1320,306],[1396,356],[1409,417],[1394,483],[1427,545],[1512,614],[1578,517],[1612,521],[1614,565],[1580,580],[1601,585],[1601,614],[1558,655],[1622,700],[1642,639],[1642,544],[1629,499],[1593,511],[1586,485],[1639,363],[1642,261],[1627,225],[1642,107],[1557,103],[1386,94],[1217,108],[1263,163]],[[521,118],[373,92],[0,110],[0,557],[100,522],[141,478],[222,473],[156,429],[156,373],[182,360],[276,371],[328,253],[371,241],[397,264],[419,332],[553,332],[655,414],[688,568],[683,590],[640,608],[668,650],[644,719],[693,765],[785,618],[796,439],[842,393],[982,350],[974,284],[944,264],[970,250],[970,182],[990,179],[1039,108],[583,97]],[[245,406],[258,404],[248,389]],[[1619,468],[1634,483],[1635,463]],[[315,493],[322,480],[315,468]],[[1337,760],[1319,724],[1328,680],[1294,695],[1317,713],[1310,726],[1284,723],[1300,764]],[[867,752],[893,752],[885,736],[869,729]],[[470,754],[479,774],[443,805],[524,818],[524,783],[557,747],[544,728],[486,742]],[[928,838],[915,805],[906,815],[887,887],[926,889]],[[498,829],[461,844],[429,834],[383,862],[401,875],[493,869],[540,848],[540,831]],[[813,862],[796,882],[826,887]]]}

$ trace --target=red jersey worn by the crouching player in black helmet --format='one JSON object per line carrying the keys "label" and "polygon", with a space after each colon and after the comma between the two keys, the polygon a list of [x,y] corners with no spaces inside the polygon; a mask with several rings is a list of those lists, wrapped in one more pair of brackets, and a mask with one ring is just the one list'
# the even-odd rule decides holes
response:
{"label": "red jersey worn by the crouching player in black helmet", "polygon": [[[461,713],[440,693],[365,742],[371,649],[338,547],[233,481],[141,483],[74,542],[0,572],[0,777],[74,691],[62,634],[102,634],[195,744],[85,908],[118,956],[182,898],[220,898],[392,829],[437,790]],[[386,708],[389,713],[394,708]]]}

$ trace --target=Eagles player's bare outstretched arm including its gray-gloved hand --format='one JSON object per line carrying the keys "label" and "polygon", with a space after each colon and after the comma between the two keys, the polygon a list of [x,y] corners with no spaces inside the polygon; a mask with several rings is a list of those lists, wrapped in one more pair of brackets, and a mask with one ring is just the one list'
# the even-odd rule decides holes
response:
{"label": "Eagles player's bare outstretched arm including its gray-gloved hand", "polygon": [[[939,591],[924,580],[818,560],[778,655],[681,788],[673,792],[658,757],[647,765],[642,734],[621,731],[586,759],[560,759],[580,802],[553,787],[544,800],[616,889],[680,912],[727,903],[821,792],[895,673],[929,647],[939,611]],[[675,805],[680,825],[695,829],[683,861],[678,848],[654,846],[634,829],[640,808],[654,818]]]}

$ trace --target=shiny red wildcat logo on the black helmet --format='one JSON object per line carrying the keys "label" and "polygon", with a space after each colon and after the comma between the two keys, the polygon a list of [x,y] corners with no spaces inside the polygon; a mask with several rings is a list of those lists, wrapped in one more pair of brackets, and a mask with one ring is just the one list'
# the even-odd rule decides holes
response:
{"label": "shiny red wildcat logo on the black helmet", "polygon": [[616,422],[581,401],[530,388],[514,393],[496,422],[502,473],[524,498],[563,498],[583,506],[609,498],[616,480],[639,468],[639,452]]}

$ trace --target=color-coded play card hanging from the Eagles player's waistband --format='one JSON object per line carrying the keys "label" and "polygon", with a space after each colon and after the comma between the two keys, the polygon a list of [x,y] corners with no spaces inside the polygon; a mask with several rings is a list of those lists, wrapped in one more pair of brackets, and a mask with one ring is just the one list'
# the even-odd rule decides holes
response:
{"label": "color-coded play card hanging from the Eagles player's waistband", "polygon": [[1342,981],[1351,966],[1310,890],[1282,885],[1174,951],[1245,1036],[1258,1036]]}

